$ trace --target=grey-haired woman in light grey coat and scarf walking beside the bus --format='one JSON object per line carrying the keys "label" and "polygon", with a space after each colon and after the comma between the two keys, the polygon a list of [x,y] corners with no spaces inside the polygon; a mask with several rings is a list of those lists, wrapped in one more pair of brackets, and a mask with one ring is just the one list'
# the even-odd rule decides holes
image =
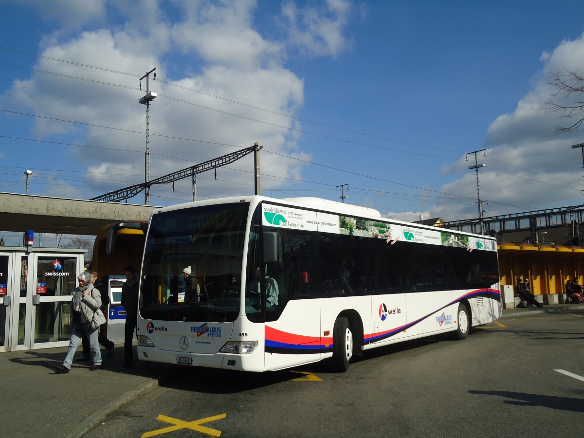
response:
{"label": "grey-haired woman in light grey coat and scarf walking beside the bus", "polygon": [[[93,319],[93,313],[96,312],[102,306],[102,296],[99,290],[93,287],[91,283],[91,274],[89,272],[82,272],[77,276],[79,281],[79,287],[72,291],[71,295],[71,319],[72,319],[72,329],[71,329],[71,341],[69,342],[69,348],[67,349],[67,356],[62,364],[55,366],[55,370],[60,373],[68,373],[71,368],[71,363],[73,361],[73,356],[75,355],[75,350],[81,342],[81,338],[84,333],[89,338],[89,349],[91,350],[91,359],[93,365],[89,370],[95,371],[99,370],[102,366],[102,354],[99,350],[99,327],[91,327],[91,321]],[[89,324],[89,331],[82,332],[82,328]]]}

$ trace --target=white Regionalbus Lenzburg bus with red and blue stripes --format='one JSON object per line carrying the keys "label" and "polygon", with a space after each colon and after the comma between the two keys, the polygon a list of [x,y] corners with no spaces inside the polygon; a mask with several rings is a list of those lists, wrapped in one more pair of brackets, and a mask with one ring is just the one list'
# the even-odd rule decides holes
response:
{"label": "white Regionalbus Lenzburg bus with red and blue stripes", "polygon": [[[184,300],[190,267],[200,295]],[[155,210],[140,275],[140,360],[271,371],[453,332],[501,314],[495,239],[316,198]]]}

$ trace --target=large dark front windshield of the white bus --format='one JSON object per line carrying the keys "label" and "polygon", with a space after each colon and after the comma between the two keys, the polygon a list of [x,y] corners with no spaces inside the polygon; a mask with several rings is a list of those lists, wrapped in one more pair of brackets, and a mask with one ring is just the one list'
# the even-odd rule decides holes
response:
{"label": "large dark front windshield of the white bus", "polygon": [[140,314],[158,321],[235,321],[249,203],[152,215]]}

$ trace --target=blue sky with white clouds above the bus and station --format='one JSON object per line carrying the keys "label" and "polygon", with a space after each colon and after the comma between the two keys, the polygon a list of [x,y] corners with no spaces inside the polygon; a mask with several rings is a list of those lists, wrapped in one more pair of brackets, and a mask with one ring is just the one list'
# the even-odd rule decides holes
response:
{"label": "blue sky with white clouds above the bus and station", "polygon": [[[584,69],[580,1],[4,0],[0,191],[89,199],[258,141],[262,194],[418,220],[583,203],[582,133],[547,109]],[[145,88],[145,81],[142,81]],[[251,156],[197,199],[253,192]],[[190,201],[190,180],[151,204]],[[128,203],[144,203],[138,194]]]}

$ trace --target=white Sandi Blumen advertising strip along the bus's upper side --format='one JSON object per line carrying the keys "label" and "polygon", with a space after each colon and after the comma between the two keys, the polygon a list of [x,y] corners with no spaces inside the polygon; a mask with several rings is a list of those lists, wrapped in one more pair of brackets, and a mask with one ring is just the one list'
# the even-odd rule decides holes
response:
{"label": "white Sandi Blumen advertising strip along the bus's upper side", "polygon": [[366,220],[350,216],[340,216],[330,213],[320,213],[297,208],[262,205],[263,225],[293,228],[303,231],[329,232],[333,234],[348,234],[359,237],[385,239],[388,244],[398,240],[427,245],[456,246],[467,248],[468,251],[481,249],[496,251],[494,245],[486,245],[486,240],[452,232],[426,230],[426,228],[407,227],[379,220]]}

